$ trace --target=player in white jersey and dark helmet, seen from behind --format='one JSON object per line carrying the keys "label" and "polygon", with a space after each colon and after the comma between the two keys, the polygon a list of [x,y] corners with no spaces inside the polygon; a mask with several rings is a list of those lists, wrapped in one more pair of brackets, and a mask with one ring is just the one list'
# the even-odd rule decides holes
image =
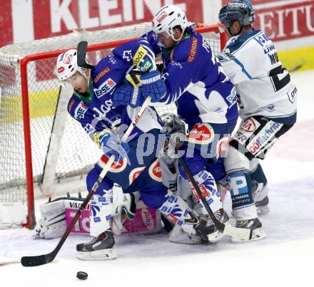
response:
{"label": "player in white jersey and dark helmet, seen from behind", "polygon": [[263,31],[253,28],[254,20],[255,11],[247,0],[223,6],[219,26],[231,39],[218,58],[236,85],[242,119],[224,161],[233,214],[237,227],[253,229],[253,239],[263,239],[265,233],[253,200],[258,207],[268,204],[267,179],[259,160],[295,123],[297,89],[274,43]]}

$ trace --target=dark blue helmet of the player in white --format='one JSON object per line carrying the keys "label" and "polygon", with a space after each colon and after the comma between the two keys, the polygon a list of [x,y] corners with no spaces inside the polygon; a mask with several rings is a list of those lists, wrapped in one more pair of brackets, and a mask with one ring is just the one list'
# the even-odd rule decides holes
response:
{"label": "dark blue helmet of the player in white", "polygon": [[218,17],[228,28],[234,21],[239,21],[240,26],[247,26],[254,23],[255,10],[248,0],[233,0],[221,8]]}

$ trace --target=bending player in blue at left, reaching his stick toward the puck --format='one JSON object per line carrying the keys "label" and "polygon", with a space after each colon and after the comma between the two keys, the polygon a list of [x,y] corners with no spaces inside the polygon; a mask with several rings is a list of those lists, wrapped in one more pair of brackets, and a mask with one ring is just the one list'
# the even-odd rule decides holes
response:
{"label": "bending player in blue at left, reaching his stick toward the puck", "polygon": [[[144,39],[113,49],[92,70],[77,65],[74,49],[61,53],[57,60],[59,80],[63,85],[74,88],[68,105],[69,114],[104,154],[87,175],[88,190],[93,187],[108,158],[115,155],[115,162],[91,199],[90,230],[94,237],[90,242],[76,246],[78,259],[106,260],[116,257],[111,231],[113,183],[119,184],[123,192],[140,191],[141,199],[148,207],[159,209],[189,234],[197,234],[207,241],[210,232],[206,219],[200,219],[183,199],[168,193],[168,188],[162,183],[157,155],[165,137],[155,110],[148,107],[128,142],[119,143],[121,133],[138,113],[140,99],[143,100],[138,88],[125,83],[125,76],[133,65],[143,72],[142,80],[157,85],[158,91],[164,94],[161,74],[154,71],[155,58]],[[153,100],[158,98],[158,91],[151,92]],[[112,100],[114,94],[116,106]],[[118,105],[121,100],[128,100],[130,105]]]}

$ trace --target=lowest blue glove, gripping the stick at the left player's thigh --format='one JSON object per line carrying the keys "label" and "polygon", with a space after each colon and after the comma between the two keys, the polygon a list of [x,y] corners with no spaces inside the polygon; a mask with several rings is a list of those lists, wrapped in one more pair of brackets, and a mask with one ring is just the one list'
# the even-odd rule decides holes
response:
{"label": "lowest blue glove, gripping the stick at the left player's thigh", "polygon": [[115,155],[114,161],[119,162],[128,155],[130,147],[127,142],[118,143],[118,137],[110,130],[103,130],[98,135],[98,144],[107,157]]}

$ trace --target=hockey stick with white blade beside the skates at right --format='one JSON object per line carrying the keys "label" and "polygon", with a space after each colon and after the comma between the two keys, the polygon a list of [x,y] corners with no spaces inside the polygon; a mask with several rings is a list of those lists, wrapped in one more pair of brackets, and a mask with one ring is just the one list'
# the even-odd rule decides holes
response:
{"label": "hockey stick with white blade beside the skates at right", "polygon": [[[157,110],[155,109],[157,117],[159,118],[160,122],[163,122],[160,118],[160,116],[157,113]],[[164,129],[166,130],[166,135],[169,138],[169,143],[172,147],[174,147],[176,155],[178,154],[178,150],[176,148],[176,144],[171,140],[171,136],[169,135],[166,126],[163,124]],[[211,210],[211,207],[209,206],[208,202],[206,202],[206,198],[203,196],[203,193],[198,187],[198,184],[196,180],[193,177],[193,174],[191,173],[190,168],[188,165],[186,165],[186,162],[183,160],[182,157],[178,157],[178,161],[181,163],[184,171],[186,172],[186,175],[188,176],[188,179],[190,179],[192,186],[196,190],[196,193],[198,194],[198,197],[200,197],[201,202],[203,203],[203,206],[205,207],[206,211],[208,212],[208,215],[211,216],[211,219],[213,220],[213,223],[215,224],[218,231],[221,231],[221,233],[232,236],[238,240],[250,240],[252,238],[252,230],[250,229],[243,229],[233,226],[228,226],[226,224],[223,224],[221,221],[216,219],[216,216],[213,214],[213,211]]]}

